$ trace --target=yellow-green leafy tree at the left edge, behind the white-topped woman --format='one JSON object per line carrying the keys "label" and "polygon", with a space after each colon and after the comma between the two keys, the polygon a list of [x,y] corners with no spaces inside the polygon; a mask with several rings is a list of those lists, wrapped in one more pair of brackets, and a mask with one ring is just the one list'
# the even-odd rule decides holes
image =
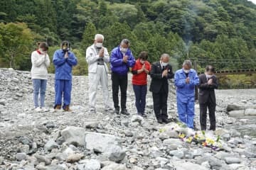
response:
{"label": "yellow-green leafy tree at the left edge, behind the white-topped woman", "polygon": [[5,67],[28,69],[33,47],[33,33],[25,23],[0,23],[1,61]]}

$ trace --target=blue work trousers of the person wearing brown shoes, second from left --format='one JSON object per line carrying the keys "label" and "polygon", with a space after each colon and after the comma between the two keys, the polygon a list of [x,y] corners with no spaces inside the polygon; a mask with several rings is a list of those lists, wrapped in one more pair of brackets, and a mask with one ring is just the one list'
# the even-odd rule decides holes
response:
{"label": "blue work trousers of the person wearing brown shoes, second from left", "polygon": [[55,106],[62,105],[63,98],[63,108],[70,105],[71,100],[71,89],[72,89],[72,81],[71,80],[63,80],[63,79],[55,79]]}

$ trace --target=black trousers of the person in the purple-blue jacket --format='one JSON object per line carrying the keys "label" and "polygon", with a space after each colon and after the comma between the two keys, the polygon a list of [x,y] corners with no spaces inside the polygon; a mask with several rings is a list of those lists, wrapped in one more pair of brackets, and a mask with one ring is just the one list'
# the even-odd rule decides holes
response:
{"label": "black trousers of the person in the purple-blue jacket", "polygon": [[128,78],[127,74],[119,75],[117,73],[112,72],[112,96],[114,101],[114,108],[119,109],[119,100],[118,100],[118,92],[119,87],[121,90],[121,108],[122,110],[126,109],[126,102],[127,102],[127,83]]}

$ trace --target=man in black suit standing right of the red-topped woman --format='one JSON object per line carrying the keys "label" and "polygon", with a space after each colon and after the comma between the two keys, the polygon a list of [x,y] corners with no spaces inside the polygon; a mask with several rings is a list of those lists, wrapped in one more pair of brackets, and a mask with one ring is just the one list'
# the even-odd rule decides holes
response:
{"label": "man in black suit standing right of the red-topped woman", "polygon": [[169,93],[168,79],[174,77],[169,55],[161,55],[160,62],[151,65],[151,84],[149,91],[153,94],[154,113],[158,123],[170,123],[167,115],[167,98]]}

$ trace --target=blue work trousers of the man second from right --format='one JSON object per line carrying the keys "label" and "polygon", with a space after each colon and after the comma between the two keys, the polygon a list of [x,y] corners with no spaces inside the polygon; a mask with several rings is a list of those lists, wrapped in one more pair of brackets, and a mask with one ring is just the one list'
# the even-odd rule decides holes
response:
{"label": "blue work trousers of the man second from right", "polygon": [[178,118],[181,122],[185,123],[188,128],[193,129],[193,118],[195,115],[195,98],[188,98],[187,101],[184,99],[177,98]]}

